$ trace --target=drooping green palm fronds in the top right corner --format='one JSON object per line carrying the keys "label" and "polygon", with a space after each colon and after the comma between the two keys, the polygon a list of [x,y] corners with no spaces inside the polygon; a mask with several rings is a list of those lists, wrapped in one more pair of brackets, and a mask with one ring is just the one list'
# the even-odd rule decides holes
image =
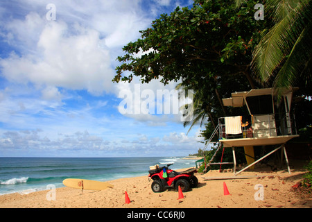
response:
{"label": "drooping green palm fronds in the top right corner", "polygon": [[[246,0],[235,1],[240,6]],[[252,70],[261,83],[272,84],[278,92],[298,79],[304,80],[305,86],[311,83],[311,15],[311,0],[265,1],[264,19],[273,19],[275,24],[254,51]]]}

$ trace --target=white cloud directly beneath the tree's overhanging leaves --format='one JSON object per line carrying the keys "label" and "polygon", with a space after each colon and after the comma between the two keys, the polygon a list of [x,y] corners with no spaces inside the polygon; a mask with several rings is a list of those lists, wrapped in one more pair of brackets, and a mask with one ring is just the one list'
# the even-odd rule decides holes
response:
{"label": "white cloud directly beneath the tree's overhanging leaves", "polygon": [[117,95],[121,98],[119,111],[126,117],[144,121],[150,126],[166,126],[168,122],[181,123],[180,106],[175,87],[177,82],[164,86],[159,79],[141,84],[136,76],[131,83],[119,83]]}

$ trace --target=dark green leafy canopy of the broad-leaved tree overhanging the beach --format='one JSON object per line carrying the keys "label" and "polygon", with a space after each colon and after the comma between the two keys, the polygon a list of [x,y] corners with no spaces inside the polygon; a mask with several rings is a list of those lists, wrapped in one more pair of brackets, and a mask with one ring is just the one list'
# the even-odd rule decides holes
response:
{"label": "dark green leafy canopy of the broad-leaved tree overhanging the beach", "polygon": [[[182,85],[197,90],[203,82],[214,89],[220,77],[247,75],[252,49],[266,24],[254,19],[255,3],[250,0],[236,10],[229,1],[194,1],[193,8],[177,7],[161,15],[152,28],[140,31],[141,39],[123,47],[126,53],[117,58],[122,65],[116,67],[114,81],[130,82],[133,75],[142,83],[182,79]],[[139,51],[142,56],[136,55]]]}

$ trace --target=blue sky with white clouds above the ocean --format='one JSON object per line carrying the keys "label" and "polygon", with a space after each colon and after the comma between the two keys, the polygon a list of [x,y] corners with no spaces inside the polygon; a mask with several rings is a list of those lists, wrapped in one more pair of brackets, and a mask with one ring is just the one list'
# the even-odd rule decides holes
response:
{"label": "blue sky with white clouds above the ocean", "polygon": [[162,13],[192,3],[1,0],[0,157],[197,153],[200,127],[187,134],[173,111],[176,94],[157,96],[177,83],[112,82],[123,46]]}

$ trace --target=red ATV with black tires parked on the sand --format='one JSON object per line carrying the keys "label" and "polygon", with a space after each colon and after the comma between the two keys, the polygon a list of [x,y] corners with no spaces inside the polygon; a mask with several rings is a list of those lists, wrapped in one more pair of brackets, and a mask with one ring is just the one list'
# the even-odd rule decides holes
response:
{"label": "red ATV with black tires parked on the sand", "polygon": [[183,172],[176,172],[171,169],[168,169],[172,164],[167,164],[166,167],[158,167],[156,169],[151,169],[148,171],[149,178],[152,178],[152,190],[157,192],[162,192],[168,188],[175,188],[178,190],[179,186],[181,187],[182,192],[189,191],[190,188],[197,187],[198,178],[194,176],[194,173],[197,172],[196,169],[188,169]]}

